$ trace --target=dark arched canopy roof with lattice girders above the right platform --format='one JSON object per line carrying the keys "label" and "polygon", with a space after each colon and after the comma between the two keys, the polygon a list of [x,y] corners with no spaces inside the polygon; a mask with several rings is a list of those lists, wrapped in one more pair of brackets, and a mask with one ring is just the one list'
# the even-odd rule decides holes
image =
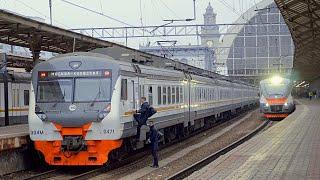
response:
{"label": "dark arched canopy roof with lattice girders above the right platform", "polygon": [[293,67],[301,80],[320,77],[320,0],[275,0],[295,44]]}

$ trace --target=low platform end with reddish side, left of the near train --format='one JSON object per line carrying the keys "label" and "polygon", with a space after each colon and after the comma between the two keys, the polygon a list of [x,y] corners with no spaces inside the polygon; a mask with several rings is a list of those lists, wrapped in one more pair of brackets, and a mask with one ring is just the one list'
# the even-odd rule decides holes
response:
{"label": "low platform end with reddish side, left of the near train", "polygon": [[28,131],[27,124],[0,127],[0,151],[27,144]]}

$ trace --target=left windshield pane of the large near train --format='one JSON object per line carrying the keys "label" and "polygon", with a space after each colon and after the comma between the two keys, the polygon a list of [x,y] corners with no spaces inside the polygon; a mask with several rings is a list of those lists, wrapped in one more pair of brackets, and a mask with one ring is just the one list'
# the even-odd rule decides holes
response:
{"label": "left windshield pane of the large near train", "polygon": [[72,79],[38,82],[37,102],[71,102]]}

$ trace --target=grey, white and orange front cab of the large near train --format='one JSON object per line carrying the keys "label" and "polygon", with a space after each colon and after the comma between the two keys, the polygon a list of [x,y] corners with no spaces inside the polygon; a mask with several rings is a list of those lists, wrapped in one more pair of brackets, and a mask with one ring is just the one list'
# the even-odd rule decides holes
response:
{"label": "grey, white and orange front cab of the large near train", "polygon": [[[87,68],[85,62],[80,66],[81,61],[69,62],[62,57],[34,69],[28,117],[30,138],[49,165],[103,165],[110,152],[122,145],[116,106],[120,91],[111,91],[119,88],[117,67],[99,58],[90,61],[96,63],[87,66],[100,67]],[[65,67],[72,62],[80,67]],[[50,69],[57,64],[64,70]]]}

